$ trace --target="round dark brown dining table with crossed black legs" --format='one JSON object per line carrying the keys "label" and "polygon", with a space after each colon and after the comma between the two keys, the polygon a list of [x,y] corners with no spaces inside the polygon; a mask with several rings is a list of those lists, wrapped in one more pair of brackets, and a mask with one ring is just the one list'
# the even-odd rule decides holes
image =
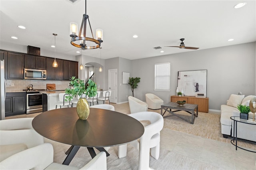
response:
{"label": "round dark brown dining table with crossed black legs", "polygon": [[79,119],[76,108],[62,108],[37,115],[32,126],[42,136],[72,145],[63,164],[68,165],[80,146],[88,148],[92,158],[96,156],[94,147],[108,152],[104,147],[126,144],[144,134],[143,125],[136,119],[106,109],[90,108],[86,120]]}

